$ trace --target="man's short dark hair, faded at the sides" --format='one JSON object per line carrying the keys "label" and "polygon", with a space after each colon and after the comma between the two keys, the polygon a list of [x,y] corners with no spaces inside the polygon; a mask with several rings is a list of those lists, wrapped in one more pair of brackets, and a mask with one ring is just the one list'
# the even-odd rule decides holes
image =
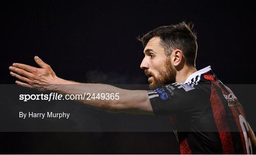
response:
{"label": "man's short dark hair, faded at the sides", "polygon": [[138,40],[146,47],[146,44],[151,38],[160,37],[160,45],[165,48],[166,56],[170,56],[176,49],[182,50],[185,63],[188,66],[195,67],[197,37],[196,33],[192,31],[192,28],[192,23],[186,24],[185,22],[176,25],[161,26],[142,37],[138,37]]}

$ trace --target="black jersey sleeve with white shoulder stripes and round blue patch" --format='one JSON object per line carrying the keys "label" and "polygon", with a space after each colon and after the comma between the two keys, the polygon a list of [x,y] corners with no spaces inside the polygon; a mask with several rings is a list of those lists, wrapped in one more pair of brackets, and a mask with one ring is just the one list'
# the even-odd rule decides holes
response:
{"label": "black jersey sleeve with white shoulder stripes and round blue patch", "polygon": [[[174,83],[147,91],[155,115],[170,115],[174,112],[190,113],[207,106],[209,90],[193,83]],[[194,116],[195,117],[195,116]]]}

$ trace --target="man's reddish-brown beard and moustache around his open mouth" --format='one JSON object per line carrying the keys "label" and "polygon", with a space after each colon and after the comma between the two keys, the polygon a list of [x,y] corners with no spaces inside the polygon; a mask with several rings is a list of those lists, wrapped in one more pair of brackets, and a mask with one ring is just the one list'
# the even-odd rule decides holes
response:
{"label": "man's reddish-brown beard and moustache around his open mouth", "polygon": [[158,75],[155,75],[148,70],[145,70],[146,76],[149,77],[149,88],[155,90],[155,88],[175,83],[176,70],[172,66],[171,59],[166,59],[165,64],[160,68]]}

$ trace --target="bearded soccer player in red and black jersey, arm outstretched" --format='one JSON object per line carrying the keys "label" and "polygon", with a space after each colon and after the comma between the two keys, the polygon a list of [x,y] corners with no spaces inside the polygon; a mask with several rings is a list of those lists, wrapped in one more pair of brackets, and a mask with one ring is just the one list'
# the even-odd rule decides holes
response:
{"label": "bearded soccer player in red and black jersey, arm outstretched", "polygon": [[181,154],[252,154],[256,138],[238,98],[210,66],[195,68],[196,40],[192,25],[184,22],[140,38],[145,47],[140,67],[151,91],[64,80],[37,56],[40,68],[13,63],[10,75],[20,86],[67,95],[119,93],[117,100],[78,100],[110,112],[169,115]]}

